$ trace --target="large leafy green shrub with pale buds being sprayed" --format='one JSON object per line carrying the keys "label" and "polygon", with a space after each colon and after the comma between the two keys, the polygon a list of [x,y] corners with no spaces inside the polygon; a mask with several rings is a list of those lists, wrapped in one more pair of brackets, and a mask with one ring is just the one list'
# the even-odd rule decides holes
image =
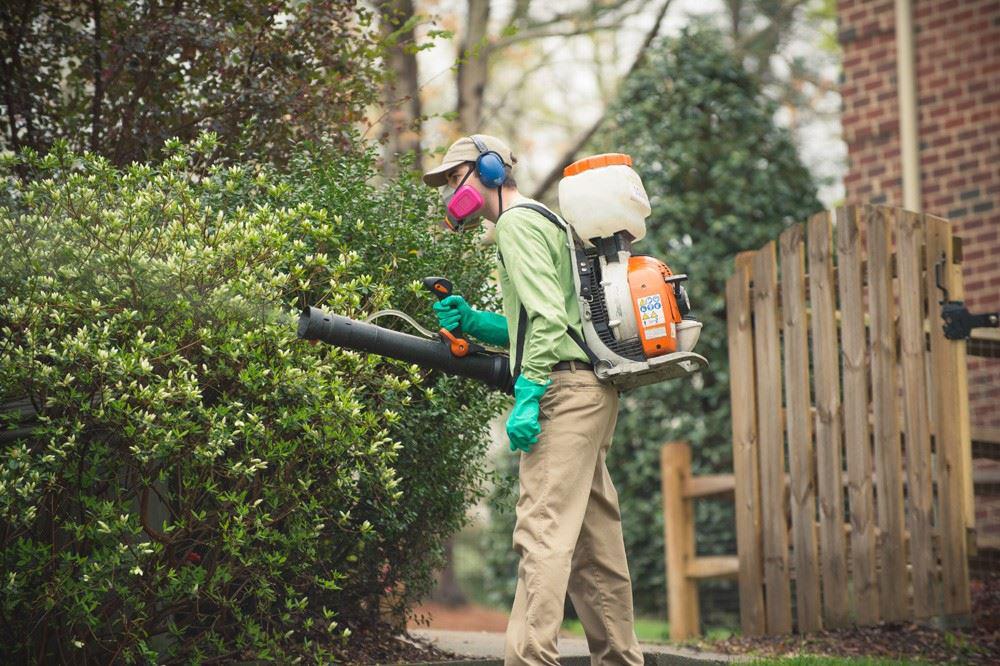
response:
{"label": "large leafy green shrub with pale buds being sprayed", "polygon": [[493,307],[485,252],[370,152],[224,152],[0,166],[4,663],[343,658],[405,625],[483,492],[499,397],[295,314],[429,325],[442,272]]}

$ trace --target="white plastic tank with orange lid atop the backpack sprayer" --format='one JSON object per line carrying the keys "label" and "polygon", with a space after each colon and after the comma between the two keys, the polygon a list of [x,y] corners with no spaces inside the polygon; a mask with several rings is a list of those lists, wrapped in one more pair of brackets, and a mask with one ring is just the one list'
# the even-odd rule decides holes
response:
{"label": "white plastic tank with orange lid atop the backpack sprayer", "polygon": [[623,230],[641,240],[650,213],[642,180],[623,153],[585,157],[563,169],[559,210],[588,245]]}

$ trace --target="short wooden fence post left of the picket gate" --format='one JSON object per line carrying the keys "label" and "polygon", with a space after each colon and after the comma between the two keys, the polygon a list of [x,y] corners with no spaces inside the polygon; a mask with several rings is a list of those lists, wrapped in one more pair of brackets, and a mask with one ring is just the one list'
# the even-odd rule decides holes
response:
{"label": "short wooden fence post left of the picket gate", "polygon": [[694,512],[684,490],[691,478],[691,447],[671,442],[660,449],[660,485],[663,490],[663,541],[666,544],[667,612],[670,638],[697,636],[698,585],[688,577],[694,560]]}

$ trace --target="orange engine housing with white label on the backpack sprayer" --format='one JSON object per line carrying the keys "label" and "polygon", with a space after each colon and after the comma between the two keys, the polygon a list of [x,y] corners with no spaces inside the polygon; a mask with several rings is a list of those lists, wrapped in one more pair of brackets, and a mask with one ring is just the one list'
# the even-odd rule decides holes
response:
{"label": "orange engine housing with white label on the backpack sprayer", "polygon": [[665,281],[670,267],[655,257],[628,260],[628,286],[636,327],[647,358],[677,351],[677,324],[681,312],[673,286]]}

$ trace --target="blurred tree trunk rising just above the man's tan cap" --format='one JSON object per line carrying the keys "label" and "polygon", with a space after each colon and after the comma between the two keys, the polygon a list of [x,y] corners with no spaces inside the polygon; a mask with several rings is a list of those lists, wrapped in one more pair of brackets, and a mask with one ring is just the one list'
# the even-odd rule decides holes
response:
{"label": "blurred tree trunk rising just above the man's tan cap", "polygon": [[490,47],[486,29],[490,20],[489,0],[468,0],[465,39],[458,62],[458,123],[463,134],[479,131],[483,94],[489,77]]}

